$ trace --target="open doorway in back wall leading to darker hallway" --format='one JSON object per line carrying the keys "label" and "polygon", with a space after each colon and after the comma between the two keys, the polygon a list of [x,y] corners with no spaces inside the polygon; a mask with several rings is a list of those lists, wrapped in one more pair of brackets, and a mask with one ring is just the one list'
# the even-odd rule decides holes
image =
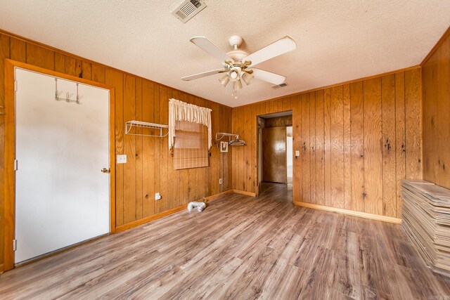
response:
{"label": "open doorway in back wall leading to darker hallway", "polygon": [[293,112],[258,117],[259,183],[293,188]]}

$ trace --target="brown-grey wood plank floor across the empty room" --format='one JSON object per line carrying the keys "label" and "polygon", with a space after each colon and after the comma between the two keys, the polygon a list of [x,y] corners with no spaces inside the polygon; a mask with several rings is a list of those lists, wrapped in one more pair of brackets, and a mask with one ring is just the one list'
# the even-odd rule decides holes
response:
{"label": "brown-grey wood plank floor across the empty room", "polygon": [[449,299],[401,226],[229,194],[0,275],[0,299]]}

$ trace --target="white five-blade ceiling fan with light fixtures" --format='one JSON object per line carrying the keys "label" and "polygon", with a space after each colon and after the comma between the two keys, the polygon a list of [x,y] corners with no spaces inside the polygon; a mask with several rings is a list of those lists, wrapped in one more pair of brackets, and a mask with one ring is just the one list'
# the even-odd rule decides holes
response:
{"label": "white five-blade ceiling fan with light fixtures", "polygon": [[252,79],[256,78],[268,81],[271,84],[283,84],[286,77],[257,69],[254,66],[276,56],[281,56],[281,54],[293,51],[297,48],[295,41],[290,37],[283,37],[283,39],[278,39],[278,41],[250,55],[239,49],[242,41],[243,38],[238,35],[230,37],[229,43],[233,47],[233,50],[225,53],[212,44],[206,37],[193,37],[191,42],[221,60],[223,67],[217,70],[182,77],[181,79],[190,81],[214,74],[226,73],[219,81],[226,87],[225,92],[236,99],[238,98],[237,91],[243,88],[242,81],[249,85]]}

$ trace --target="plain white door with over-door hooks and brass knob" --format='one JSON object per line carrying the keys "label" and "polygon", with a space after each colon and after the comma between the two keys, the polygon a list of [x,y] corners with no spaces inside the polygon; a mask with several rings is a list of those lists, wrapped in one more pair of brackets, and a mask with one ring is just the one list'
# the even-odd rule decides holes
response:
{"label": "plain white door with over-door hooks and brass knob", "polygon": [[[15,69],[15,263],[109,233],[109,91]],[[58,90],[76,84],[58,79]],[[75,95],[72,96],[72,99]]]}

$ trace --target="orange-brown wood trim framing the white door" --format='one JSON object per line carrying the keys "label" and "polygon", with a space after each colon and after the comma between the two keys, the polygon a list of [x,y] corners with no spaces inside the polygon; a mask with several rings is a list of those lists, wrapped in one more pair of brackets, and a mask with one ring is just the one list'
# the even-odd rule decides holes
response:
{"label": "orange-brown wood trim framing the white door", "polygon": [[110,233],[115,232],[115,89],[113,86],[47,70],[35,65],[5,60],[5,177],[4,177],[4,270],[14,268],[13,240],[15,236],[15,93],[14,69],[20,67],[52,77],[97,86],[110,91]]}

